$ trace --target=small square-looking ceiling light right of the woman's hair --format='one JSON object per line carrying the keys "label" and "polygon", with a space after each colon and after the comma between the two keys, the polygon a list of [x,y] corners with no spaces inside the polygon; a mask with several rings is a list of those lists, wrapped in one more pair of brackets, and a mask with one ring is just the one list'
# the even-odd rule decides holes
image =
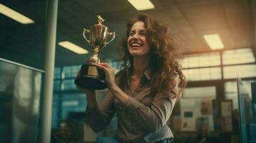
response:
{"label": "small square-looking ceiling light right of the woman's hair", "polygon": [[222,43],[222,40],[219,37],[219,34],[209,34],[204,35],[205,41],[207,41],[207,44],[210,46],[211,49],[223,49],[224,45]]}

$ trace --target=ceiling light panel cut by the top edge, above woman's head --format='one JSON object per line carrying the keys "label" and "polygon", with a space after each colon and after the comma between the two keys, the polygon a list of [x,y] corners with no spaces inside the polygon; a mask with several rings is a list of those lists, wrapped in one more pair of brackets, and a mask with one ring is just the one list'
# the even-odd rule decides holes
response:
{"label": "ceiling light panel cut by the top edge, above woman's head", "polygon": [[155,6],[149,0],[128,0],[138,11],[154,9]]}

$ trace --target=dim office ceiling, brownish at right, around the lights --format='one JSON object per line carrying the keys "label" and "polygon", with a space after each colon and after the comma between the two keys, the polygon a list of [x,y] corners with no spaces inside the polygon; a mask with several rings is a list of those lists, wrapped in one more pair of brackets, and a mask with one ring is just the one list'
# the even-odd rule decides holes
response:
{"label": "dim office ceiling, brownish at right, around the lights", "polygon": [[[75,54],[56,46],[55,66],[84,63],[92,48],[82,38],[82,29],[97,23],[116,32],[116,38],[100,52],[105,60],[118,60],[117,47],[125,35],[128,19],[140,12],[151,14],[171,28],[184,54],[211,51],[204,34],[219,34],[224,49],[255,47],[255,10],[253,0],[151,0],[155,9],[137,11],[126,0],[60,0],[57,18],[57,42],[72,41],[89,54]],[[0,2],[35,21],[23,25],[0,14],[0,58],[44,69],[46,0],[4,0]],[[253,48],[254,50],[254,48]]]}

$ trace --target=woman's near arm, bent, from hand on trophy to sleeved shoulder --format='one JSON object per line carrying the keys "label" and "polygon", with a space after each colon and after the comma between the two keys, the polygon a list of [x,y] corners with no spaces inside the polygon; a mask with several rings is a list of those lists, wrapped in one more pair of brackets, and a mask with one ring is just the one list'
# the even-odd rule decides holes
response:
{"label": "woman's near arm, bent, from hand on trophy to sleeved shoulder", "polygon": [[129,97],[115,84],[115,70],[108,64],[98,65],[106,74],[106,81],[108,82],[108,89],[112,92],[115,99],[123,104],[123,109],[127,114],[130,114],[138,127],[145,129],[147,132],[156,132],[163,127],[169,117],[174,103],[169,98],[169,92],[158,92],[155,95],[151,107],[147,107],[133,97]]}

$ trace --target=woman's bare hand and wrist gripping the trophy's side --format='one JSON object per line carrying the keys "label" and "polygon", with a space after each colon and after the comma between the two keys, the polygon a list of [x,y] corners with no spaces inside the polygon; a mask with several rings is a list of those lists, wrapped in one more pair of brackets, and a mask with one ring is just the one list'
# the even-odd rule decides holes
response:
{"label": "woman's bare hand and wrist gripping the trophy's side", "polygon": [[115,83],[115,69],[110,66],[108,63],[100,63],[97,64],[98,68],[103,69],[103,71],[105,72],[105,81],[108,84],[108,89],[112,89],[115,86],[117,86],[117,84]]}

